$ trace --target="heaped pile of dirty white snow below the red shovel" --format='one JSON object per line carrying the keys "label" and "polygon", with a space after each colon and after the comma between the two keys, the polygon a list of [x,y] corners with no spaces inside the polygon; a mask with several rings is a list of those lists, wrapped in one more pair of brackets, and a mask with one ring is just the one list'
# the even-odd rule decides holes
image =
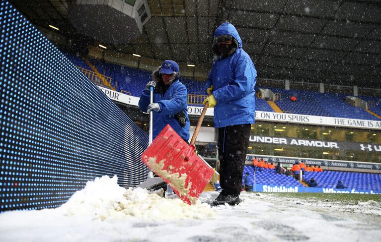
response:
{"label": "heaped pile of dirty white snow below the red shovel", "polygon": [[117,181],[116,176],[104,176],[87,182],[82,190],[76,191],[57,209],[66,216],[100,220],[139,218],[162,221],[214,216],[208,204],[197,201],[188,205],[179,198],[165,199],[142,188],[127,190]]}

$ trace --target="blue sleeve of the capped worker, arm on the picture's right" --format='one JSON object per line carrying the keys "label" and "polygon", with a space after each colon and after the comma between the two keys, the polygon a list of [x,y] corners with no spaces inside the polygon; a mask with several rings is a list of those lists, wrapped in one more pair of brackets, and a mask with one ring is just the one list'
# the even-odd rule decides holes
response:
{"label": "blue sleeve of the capped worker, arm on the picture's right", "polygon": [[173,92],[171,99],[157,102],[160,105],[160,114],[175,115],[185,107],[188,97],[187,89],[184,85],[179,85],[176,88],[177,89]]}

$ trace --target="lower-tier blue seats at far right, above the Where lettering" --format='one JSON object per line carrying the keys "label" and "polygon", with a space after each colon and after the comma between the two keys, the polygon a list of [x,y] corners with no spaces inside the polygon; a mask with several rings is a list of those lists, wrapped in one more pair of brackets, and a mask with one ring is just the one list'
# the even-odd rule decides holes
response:
{"label": "lower-tier blue seats at far right, above the Where lettering", "polygon": [[306,172],[303,175],[305,181],[311,178],[318,183],[317,187],[335,188],[340,180],[348,189],[381,191],[380,174],[322,171]]}

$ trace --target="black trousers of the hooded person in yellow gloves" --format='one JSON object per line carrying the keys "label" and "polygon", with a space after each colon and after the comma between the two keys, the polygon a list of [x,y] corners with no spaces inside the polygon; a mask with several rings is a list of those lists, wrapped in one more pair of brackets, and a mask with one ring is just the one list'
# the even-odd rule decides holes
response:
{"label": "black trousers of the hooded person in yellow gloves", "polygon": [[220,185],[231,194],[239,194],[251,124],[232,125],[218,129]]}

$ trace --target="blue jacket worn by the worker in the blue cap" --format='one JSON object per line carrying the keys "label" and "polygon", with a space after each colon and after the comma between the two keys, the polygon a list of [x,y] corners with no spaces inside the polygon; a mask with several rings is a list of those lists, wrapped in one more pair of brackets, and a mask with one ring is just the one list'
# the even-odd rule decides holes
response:
{"label": "blue jacket worn by the worker in the blue cap", "polygon": [[[184,140],[189,140],[189,117],[187,112],[188,92],[184,84],[178,79],[165,91],[164,95],[153,89],[153,103],[160,106],[159,112],[153,112],[152,138],[154,139],[165,125],[169,124]],[[139,108],[142,112],[147,113],[147,107],[150,104],[150,91],[144,89],[139,100]],[[186,116],[186,123],[181,127],[174,115],[183,111]]]}

